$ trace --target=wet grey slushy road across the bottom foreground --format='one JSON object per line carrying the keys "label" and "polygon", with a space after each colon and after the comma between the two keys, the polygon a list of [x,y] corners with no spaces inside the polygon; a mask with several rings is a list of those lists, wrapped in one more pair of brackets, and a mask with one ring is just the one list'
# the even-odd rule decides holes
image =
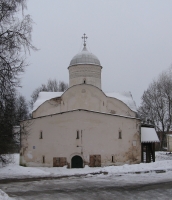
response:
{"label": "wet grey slushy road across the bottom foreground", "polygon": [[172,173],[11,182],[0,188],[18,200],[170,200]]}

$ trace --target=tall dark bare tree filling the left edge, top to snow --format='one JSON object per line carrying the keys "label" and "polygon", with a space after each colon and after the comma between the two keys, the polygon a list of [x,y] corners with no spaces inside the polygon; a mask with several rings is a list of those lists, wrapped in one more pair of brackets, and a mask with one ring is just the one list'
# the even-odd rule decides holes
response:
{"label": "tall dark bare tree filling the left edge, top to snow", "polygon": [[19,75],[28,65],[26,53],[36,48],[31,43],[32,19],[19,11],[26,8],[26,0],[0,0],[0,163],[15,142],[15,87],[20,86]]}

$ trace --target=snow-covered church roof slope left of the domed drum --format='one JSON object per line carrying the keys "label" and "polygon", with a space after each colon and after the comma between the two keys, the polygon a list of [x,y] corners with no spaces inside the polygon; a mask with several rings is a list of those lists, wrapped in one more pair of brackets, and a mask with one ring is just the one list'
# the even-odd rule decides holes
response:
{"label": "snow-covered church roof slope left of the domed drum", "polygon": [[62,94],[63,92],[40,92],[36,102],[33,105],[32,112],[35,111],[45,101],[55,98],[55,97],[60,97]]}

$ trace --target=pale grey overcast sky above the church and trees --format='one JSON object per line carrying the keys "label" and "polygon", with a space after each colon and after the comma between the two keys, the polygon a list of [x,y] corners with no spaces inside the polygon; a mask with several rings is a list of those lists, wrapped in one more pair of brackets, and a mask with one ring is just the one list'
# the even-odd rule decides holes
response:
{"label": "pale grey overcast sky above the church and trees", "polygon": [[131,91],[137,106],[172,63],[171,0],[28,0],[27,6],[39,49],[22,75],[27,100],[49,78],[69,81],[67,68],[82,49],[83,33],[103,66],[102,90]]}

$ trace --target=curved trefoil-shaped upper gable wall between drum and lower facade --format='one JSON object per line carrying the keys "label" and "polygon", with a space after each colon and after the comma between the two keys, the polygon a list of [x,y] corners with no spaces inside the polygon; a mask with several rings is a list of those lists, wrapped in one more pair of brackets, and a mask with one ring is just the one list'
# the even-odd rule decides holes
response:
{"label": "curved trefoil-shaped upper gable wall between drum and lower facade", "polygon": [[107,97],[99,88],[87,84],[69,88],[58,101],[54,98],[44,102],[32,115],[36,118],[75,109],[94,110],[132,117],[136,115],[120,100]]}

